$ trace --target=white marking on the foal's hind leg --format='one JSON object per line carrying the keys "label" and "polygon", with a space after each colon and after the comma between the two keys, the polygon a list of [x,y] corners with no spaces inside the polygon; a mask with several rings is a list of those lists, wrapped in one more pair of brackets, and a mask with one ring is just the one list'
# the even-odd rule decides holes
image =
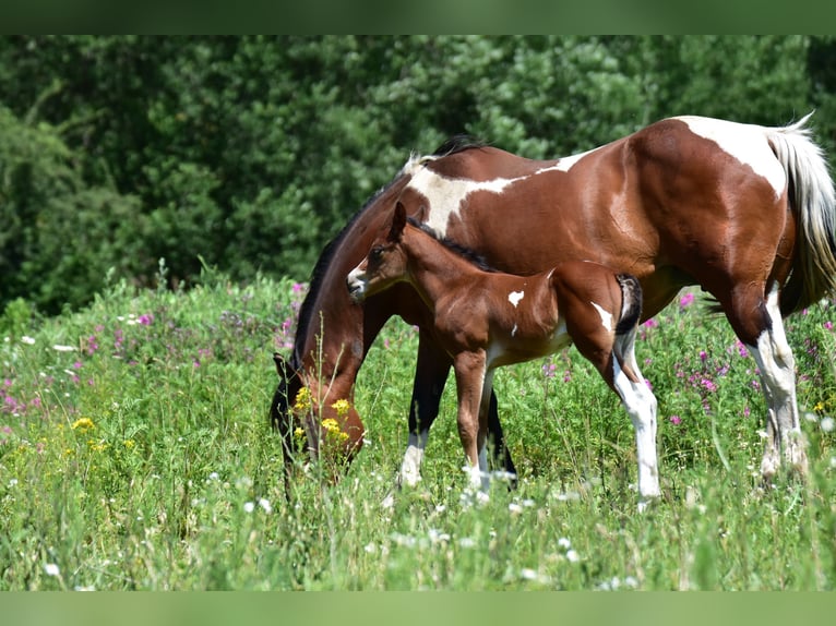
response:
{"label": "white marking on the foal's hind leg", "polygon": [[630,416],[635,429],[636,457],[638,460],[640,510],[646,503],[660,495],[659,464],[656,458],[656,396],[647,387],[635,362],[632,346],[625,354],[630,369],[638,377],[633,383],[624,374],[618,359],[613,359],[613,386]]}

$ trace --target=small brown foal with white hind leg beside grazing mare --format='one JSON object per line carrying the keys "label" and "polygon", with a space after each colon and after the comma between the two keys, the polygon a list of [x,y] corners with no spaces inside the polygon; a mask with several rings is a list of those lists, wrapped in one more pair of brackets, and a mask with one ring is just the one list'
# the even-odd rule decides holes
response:
{"label": "small brown foal with white hind leg beside grazing mare", "polygon": [[470,484],[488,487],[485,441],[493,370],[554,353],[572,342],[619,395],[636,430],[641,505],[659,495],[656,398],[633,351],[642,290],[628,274],[577,261],[534,276],[478,267],[455,244],[407,219],[397,203],[389,236],[347,278],[356,302],[409,282],[434,315],[453,358],[458,434]]}

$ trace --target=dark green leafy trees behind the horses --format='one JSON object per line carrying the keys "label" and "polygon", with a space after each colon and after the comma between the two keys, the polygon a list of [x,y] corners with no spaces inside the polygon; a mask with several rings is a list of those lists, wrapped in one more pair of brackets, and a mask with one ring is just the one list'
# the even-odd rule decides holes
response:
{"label": "dark green leafy trees behind the horses", "polygon": [[0,313],[203,265],[306,280],[453,134],[552,158],[668,116],[814,109],[833,160],[834,36],[0,37]]}

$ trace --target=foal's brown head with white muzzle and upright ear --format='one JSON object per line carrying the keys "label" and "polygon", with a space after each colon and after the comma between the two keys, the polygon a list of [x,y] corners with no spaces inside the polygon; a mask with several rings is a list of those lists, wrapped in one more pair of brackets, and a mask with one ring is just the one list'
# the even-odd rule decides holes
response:
{"label": "foal's brown head with white muzzle and upright ear", "polygon": [[406,209],[398,202],[389,234],[375,239],[366,258],[348,274],[346,284],[355,302],[362,302],[406,276],[406,253],[401,246],[406,221]]}

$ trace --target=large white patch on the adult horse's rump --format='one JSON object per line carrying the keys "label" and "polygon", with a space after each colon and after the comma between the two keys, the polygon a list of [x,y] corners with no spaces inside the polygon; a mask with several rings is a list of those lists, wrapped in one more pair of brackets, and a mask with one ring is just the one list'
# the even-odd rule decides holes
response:
{"label": "large white patch on the adult horse's rump", "polygon": [[775,158],[766,129],[754,124],[741,124],[727,120],[714,120],[697,116],[673,118],[688,124],[692,133],[716,143],[720,149],[765,178],[780,196],[787,186],[787,174]]}

